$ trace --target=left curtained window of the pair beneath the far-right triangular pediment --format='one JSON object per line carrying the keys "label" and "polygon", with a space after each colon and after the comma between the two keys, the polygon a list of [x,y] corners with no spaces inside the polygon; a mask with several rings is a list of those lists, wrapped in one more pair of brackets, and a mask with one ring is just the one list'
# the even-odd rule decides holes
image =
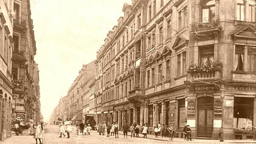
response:
{"label": "left curtained window of the pair beneath the far-right triangular pediment", "polygon": [[235,68],[236,70],[243,70],[244,68],[244,47],[236,46],[236,55],[235,55]]}

